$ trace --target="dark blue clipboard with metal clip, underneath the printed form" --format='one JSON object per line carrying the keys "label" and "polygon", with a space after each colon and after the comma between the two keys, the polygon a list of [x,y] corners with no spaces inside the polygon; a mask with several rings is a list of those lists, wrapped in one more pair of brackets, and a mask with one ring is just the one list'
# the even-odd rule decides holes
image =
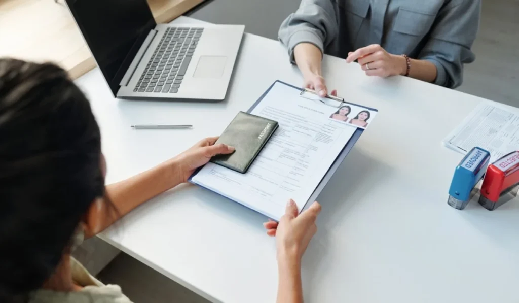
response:
{"label": "dark blue clipboard with metal clip, underneath the printed form", "polygon": [[[331,95],[327,95],[326,97],[319,97],[316,93],[316,91],[314,90],[311,90],[311,89],[308,89],[308,88],[301,88],[301,87],[297,87],[297,86],[294,86],[294,85],[291,85],[291,84],[288,84],[288,83],[285,83],[285,82],[282,82],[280,80],[276,80],[274,83],[272,83],[272,85],[270,85],[270,87],[265,91],[265,93],[263,93],[260,98],[258,98],[256,100],[256,102],[254,102],[254,104],[252,104],[252,106],[249,108],[249,110],[247,111],[247,113],[251,113],[258,104],[260,104],[260,102],[265,98],[265,96],[268,95],[268,93],[270,92],[270,90],[272,89],[272,87],[274,87],[277,83],[279,84],[283,84],[283,85],[286,85],[286,86],[289,86],[289,87],[292,87],[294,88],[294,93],[296,94],[299,94],[299,96],[301,98],[305,98],[304,94],[311,94],[311,95],[315,95],[317,96],[317,98],[313,98],[311,100],[315,100],[316,102],[322,102],[330,107],[334,107],[334,108],[340,108],[342,107],[344,104],[350,104],[352,106],[356,106],[356,107],[360,107],[360,108],[364,108],[366,110],[370,110],[370,111],[373,111],[373,112],[378,112],[377,109],[374,109],[374,108],[369,108],[369,107],[365,107],[365,106],[362,106],[360,104],[356,104],[356,103],[350,103],[350,102],[346,102],[343,98],[340,98],[340,97],[336,97],[336,96],[331,96]],[[331,100],[331,101],[334,101],[332,104],[330,104],[329,102],[326,102],[325,100],[322,100],[322,99],[326,99],[326,100]],[[338,103],[338,106],[337,106],[337,103]],[[346,156],[348,155],[348,153],[351,151],[351,149],[353,148],[353,146],[355,145],[355,143],[357,143],[357,140],[359,140],[360,136],[362,135],[362,133],[364,133],[364,129],[362,128],[357,128],[355,130],[355,132],[353,133],[353,135],[351,136],[350,140],[346,143],[346,145],[344,146],[344,148],[342,149],[342,151],[340,151],[340,153],[337,155],[337,157],[335,158],[334,162],[332,163],[332,165],[330,166],[330,168],[327,170],[326,174],[324,174],[324,176],[322,177],[321,181],[319,182],[318,186],[315,188],[315,190],[313,190],[312,194],[310,195],[310,198],[305,202],[304,206],[301,208],[301,210],[299,211],[299,213],[303,212],[305,209],[307,209],[312,203],[313,201],[316,201],[317,200],[317,197],[319,196],[319,194],[321,193],[321,191],[324,189],[324,187],[326,186],[326,184],[328,183],[328,181],[330,181],[330,179],[332,178],[333,174],[336,172],[337,168],[339,168],[340,164],[343,163],[344,159],[346,158]],[[203,167],[203,166],[202,166]],[[212,192],[214,192],[213,190],[207,188],[207,187],[204,187],[204,186],[201,186],[199,185],[198,183],[195,183],[193,182],[192,178],[194,176],[196,176],[196,174],[198,174],[198,172],[200,171],[200,169],[202,169],[202,167],[198,168],[192,176],[189,177],[188,179],[188,182],[190,183],[193,183],[194,185],[196,186],[199,186],[199,187],[202,187],[202,188],[205,188],[207,190],[210,190]],[[229,197],[223,195],[223,194],[220,194],[220,193],[217,193],[217,192],[214,192],[218,195],[221,195],[223,197],[225,197],[226,199],[229,199],[229,200],[232,200],[230,199]],[[234,201],[234,200],[232,200]],[[238,201],[234,201],[238,204],[240,204],[241,206],[243,207],[247,207],[249,209],[252,209],[254,210],[255,212],[257,213],[260,213],[264,216],[267,216],[269,217],[267,214],[264,214],[263,212],[261,212],[261,210],[258,210],[258,209],[255,209],[253,207],[249,207],[249,206],[245,206],[243,205],[242,203],[238,202]],[[310,203],[308,203],[310,202]]]}

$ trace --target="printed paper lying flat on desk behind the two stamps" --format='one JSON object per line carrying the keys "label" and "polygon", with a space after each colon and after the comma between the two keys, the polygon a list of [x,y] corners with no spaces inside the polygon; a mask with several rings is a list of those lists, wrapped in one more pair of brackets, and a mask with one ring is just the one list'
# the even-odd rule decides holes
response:
{"label": "printed paper lying flat on desk behind the two stamps", "polygon": [[481,147],[490,152],[493,162],[519,150],[519,109],[482,102],[442,142],[463,154]]}

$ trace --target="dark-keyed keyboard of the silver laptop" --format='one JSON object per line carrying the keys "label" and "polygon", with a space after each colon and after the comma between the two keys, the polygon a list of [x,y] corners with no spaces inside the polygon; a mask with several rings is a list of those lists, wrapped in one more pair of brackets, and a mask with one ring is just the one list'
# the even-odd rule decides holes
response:
{"label": "dark-keyed keyboard of the silver laptop", "polygon": [[168,28],[133,91],[178,93],[203,28]]}

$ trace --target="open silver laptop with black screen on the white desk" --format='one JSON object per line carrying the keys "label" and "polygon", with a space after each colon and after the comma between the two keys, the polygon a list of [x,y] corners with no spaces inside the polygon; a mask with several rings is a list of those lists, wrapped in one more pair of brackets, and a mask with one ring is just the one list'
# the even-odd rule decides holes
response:
{"label": "open silver laptop with black screen on the white desk", "polygon": [[157,24],[146,0],[66,0],[114,97],[223,100],[244,25]]}

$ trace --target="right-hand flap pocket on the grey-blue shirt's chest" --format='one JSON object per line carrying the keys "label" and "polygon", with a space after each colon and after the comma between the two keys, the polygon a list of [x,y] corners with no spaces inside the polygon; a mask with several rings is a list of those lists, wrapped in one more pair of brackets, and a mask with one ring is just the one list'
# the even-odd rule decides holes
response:
{"label": "right-hand flap pocket on the grey-blue shirt's chest", "polygon": [[398,11],[393,31],[423,37],[431,29],[434,19],[436,19],[435,14],[413,11],[401,7]]}

